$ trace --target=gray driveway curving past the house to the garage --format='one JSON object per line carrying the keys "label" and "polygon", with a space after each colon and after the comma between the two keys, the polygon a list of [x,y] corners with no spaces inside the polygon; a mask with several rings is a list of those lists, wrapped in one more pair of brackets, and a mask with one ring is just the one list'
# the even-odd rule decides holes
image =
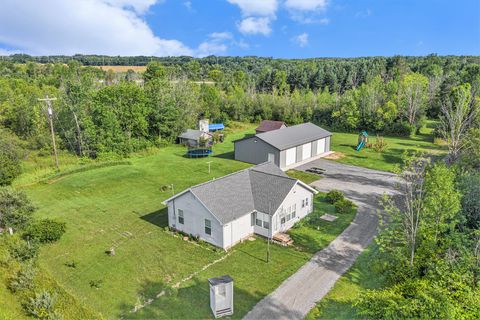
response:
{"label": "gray driveway curving past the house to the garage", "polygon": [[317,252],[274,292],[261,300],[244,319],[303,319],[376,235],[379,200],[396,193],[394,174],[318,159],[297,170],[325,169],[323,179],[312,183],[318,190],[341,190],[358,205],[353,222],[330,245]]}

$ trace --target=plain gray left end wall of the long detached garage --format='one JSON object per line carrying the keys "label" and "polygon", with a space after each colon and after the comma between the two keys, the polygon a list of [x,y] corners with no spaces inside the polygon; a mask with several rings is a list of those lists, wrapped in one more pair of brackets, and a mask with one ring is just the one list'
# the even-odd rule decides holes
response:
{"label": "plain gray left end wall of the long detached garage", "polygon": [[260,164],[268,161],[269,153],[275,155],[275,165],[280,166],[280,152],[263,140],[251,137],[235,141],[235,160]]}

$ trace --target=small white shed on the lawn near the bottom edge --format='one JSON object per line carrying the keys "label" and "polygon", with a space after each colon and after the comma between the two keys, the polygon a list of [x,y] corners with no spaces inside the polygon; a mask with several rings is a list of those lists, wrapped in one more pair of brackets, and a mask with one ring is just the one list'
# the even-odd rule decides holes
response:
{"label": "small white shed on the lawn near the bottom edge", "polygon": [[224,275],[208,279],[210,308],[215,318],[233,314],[233,279]]}

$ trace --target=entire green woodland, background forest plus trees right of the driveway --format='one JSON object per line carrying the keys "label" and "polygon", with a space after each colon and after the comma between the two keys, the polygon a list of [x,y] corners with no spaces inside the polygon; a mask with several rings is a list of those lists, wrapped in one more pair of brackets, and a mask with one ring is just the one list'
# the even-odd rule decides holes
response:
{"label": "entire green woodland, background forest plus trees right of the driveway", "polygon": [[[56,98],[51,115],[39,100],[47,95]],[[51,154],[49,116],[62,152],[98,160],[167,146],[200,118],[227,126],[310,121],[336,132],[401,137],[434,120],[435,137],[448,147],[446,161],[405,156],[398,172],[407,186],[404,206],[384,200],[388,218],[372,262],[385,285],[367,291],[356,308],[368,318],[474,319],[480,313],[479,108],[480,57],[12,55],[0,60],[0,185],[21,174],[29,152]],[[27,202],[13,189],[1,190],[19,207]],[[7,200],[0,209],[12,207]],[[0,226],[25,224],[16,220],[23,213],[0,216]]]}

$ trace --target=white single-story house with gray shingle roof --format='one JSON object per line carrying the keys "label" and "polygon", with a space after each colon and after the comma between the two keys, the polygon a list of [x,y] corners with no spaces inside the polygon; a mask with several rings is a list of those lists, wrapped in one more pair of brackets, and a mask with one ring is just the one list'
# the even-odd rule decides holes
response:
{"label": "white single-story house with gray shingle roof", "polygon": [[317,193],[271,162],[193,186],[163,203],[170,227],[228,249],[259,234],[273,237],[313,210]]}

